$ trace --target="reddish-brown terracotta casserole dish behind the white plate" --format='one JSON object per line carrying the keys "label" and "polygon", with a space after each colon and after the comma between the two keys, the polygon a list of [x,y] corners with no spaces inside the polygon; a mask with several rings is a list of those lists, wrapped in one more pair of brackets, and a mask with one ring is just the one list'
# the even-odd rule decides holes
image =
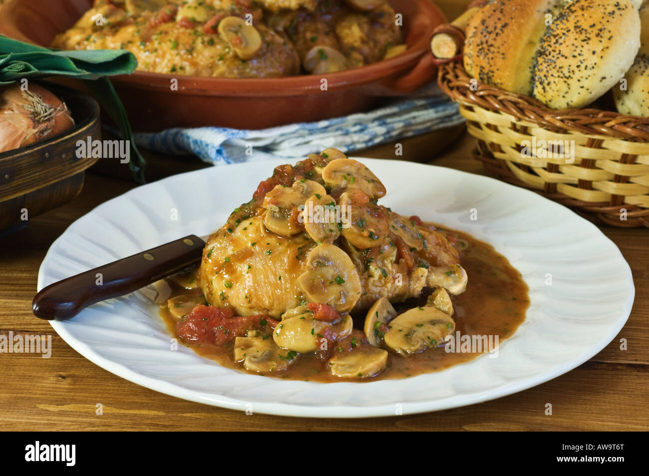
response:
{"label": "reddish-brown terracotta casserole dish behind the white plate", "polygon": [[[434,81],[437,68],[428,40],[444,14],[431,0],[391,0],[403,15],[408,51],[389,60],[326,76],[278,79],[187,77],[137,71],[113,79],[137,131],[219,126],[263,129],[369,110],[385,96],[405,95]],[[92,0],[9,0],[0,12],[0,33],[39,45],[51,44],[71,27]],[[171,79],[178,91],[171,91]]]}

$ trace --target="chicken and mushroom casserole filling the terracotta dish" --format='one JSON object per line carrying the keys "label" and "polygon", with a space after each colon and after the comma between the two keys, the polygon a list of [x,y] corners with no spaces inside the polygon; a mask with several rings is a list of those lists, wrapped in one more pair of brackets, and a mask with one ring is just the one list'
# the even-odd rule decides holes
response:
{"label": "chicken and mushroom casserole filling the terracotta dish", "polygon": [[375,1],[357,11],[358,1],[95,0],[52,46],[125,49],[136,56],[139,70],[154,73],[328,73],[382,60],[400,43],[394,10]]}

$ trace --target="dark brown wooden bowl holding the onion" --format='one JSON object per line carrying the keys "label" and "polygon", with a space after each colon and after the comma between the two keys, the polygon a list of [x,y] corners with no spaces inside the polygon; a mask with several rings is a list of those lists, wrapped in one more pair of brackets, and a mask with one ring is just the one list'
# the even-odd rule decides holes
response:
{"label": "dark brown wooden bowl holding the onion", "polygon": [[84,170],[97,158],[78,158],[77,141],[101,140],[99,105],[90,96],[43,82],[69,108],[75,127],[43,142],[0,153],[0,231],[26,224],[38,214],[79,195]]}

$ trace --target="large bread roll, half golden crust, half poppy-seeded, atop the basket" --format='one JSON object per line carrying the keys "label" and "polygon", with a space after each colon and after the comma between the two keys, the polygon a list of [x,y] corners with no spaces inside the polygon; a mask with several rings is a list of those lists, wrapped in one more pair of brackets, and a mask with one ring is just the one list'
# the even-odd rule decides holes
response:
{"label": "large bread roll, half golden crust, half poppy-seeded, atop the basket", "polygon": [[[532,95],[551,108],[589,105],[633,64],[641,3],[492,0],[469,21],[464,67],[480,82]],[[649,55],[649,27],[646,40]]]}

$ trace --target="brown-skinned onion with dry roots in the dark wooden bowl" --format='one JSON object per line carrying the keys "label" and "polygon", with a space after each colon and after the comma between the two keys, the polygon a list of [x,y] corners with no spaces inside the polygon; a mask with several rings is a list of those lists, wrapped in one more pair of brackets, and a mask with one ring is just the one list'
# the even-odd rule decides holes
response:
{"label": "brown-skinned onion with dry roots in the dark wooden bowl", "polygon": [[0,88],[0,153],[41,142],[74,125],[66,104],[45,88]]}

